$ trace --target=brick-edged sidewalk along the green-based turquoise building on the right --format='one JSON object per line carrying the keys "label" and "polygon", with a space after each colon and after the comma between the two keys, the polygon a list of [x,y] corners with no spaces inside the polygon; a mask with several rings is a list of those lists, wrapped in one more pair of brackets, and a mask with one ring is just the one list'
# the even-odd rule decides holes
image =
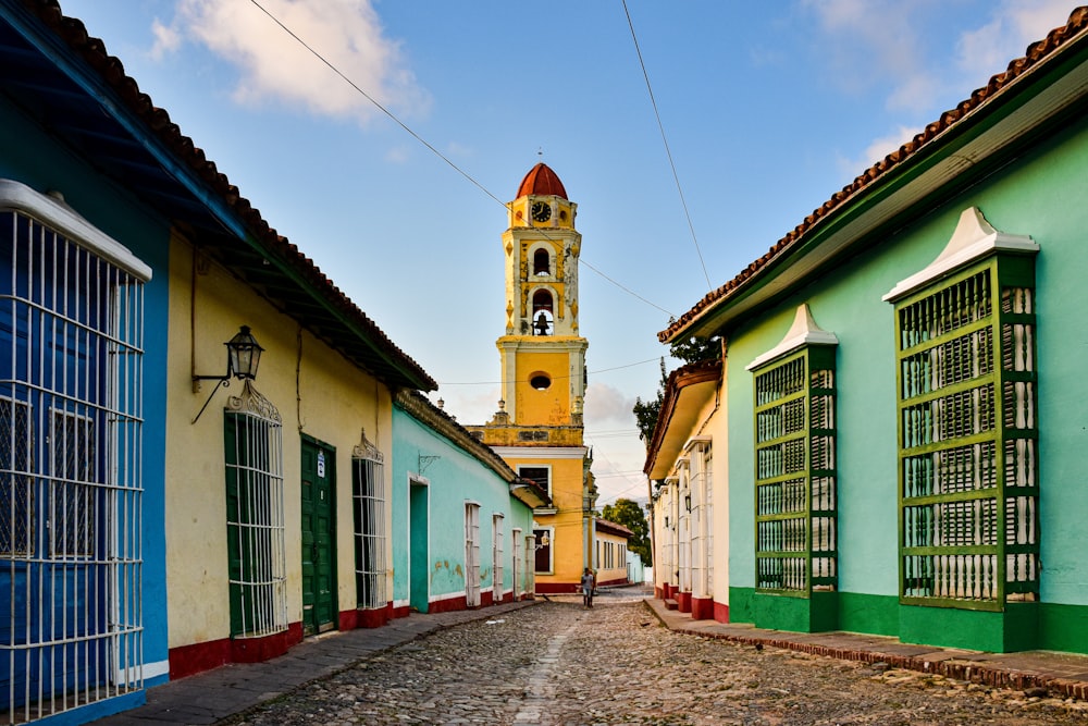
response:
{"label": "brick-edged sidewalk along the green-based turquoise building on the right", "polygon": [[752,625],[693,620],[687,613],[646,599],[646,606],[670,630],[738,643],[762,644],[844,661],[887,663],[998,688],[1043,688],[1053,694],[1088,700],[1088,656],[1049,651],[985,653],[902,643],[895,638],[849,632],[787,632]]}

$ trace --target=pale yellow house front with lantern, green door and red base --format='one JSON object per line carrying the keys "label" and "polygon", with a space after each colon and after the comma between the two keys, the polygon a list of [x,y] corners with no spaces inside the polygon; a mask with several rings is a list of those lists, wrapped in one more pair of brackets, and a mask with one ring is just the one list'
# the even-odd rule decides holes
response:
{"label": "pale yellow house front with lantern, green door and red base", "polygon": [[[390,384],[345,355],[348,334],[314,335],[180,233],[169,274],[171,677],[386,623]],[[254,380],[226,360],[239,327],[261,348]]]}

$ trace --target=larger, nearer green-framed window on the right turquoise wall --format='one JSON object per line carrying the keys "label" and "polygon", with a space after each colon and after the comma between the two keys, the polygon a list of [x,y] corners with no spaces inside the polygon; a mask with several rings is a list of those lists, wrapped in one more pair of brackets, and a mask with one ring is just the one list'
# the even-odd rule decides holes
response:
{"label": "larger, nearer green-framed window on the right turquoise wall", "polygon": [[998,254],[895,304],[900,602],[1039,594],[1035,258]]}

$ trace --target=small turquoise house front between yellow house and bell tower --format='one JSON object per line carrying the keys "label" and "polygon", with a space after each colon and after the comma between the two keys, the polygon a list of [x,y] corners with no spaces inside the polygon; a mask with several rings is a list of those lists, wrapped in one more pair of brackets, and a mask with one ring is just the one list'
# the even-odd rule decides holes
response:
{"label": "small turquoise house front between yellow house and bell tower", "polygon": [[424,396],[393,407],[394,616],[533,596],[533,508],[548,504]]}

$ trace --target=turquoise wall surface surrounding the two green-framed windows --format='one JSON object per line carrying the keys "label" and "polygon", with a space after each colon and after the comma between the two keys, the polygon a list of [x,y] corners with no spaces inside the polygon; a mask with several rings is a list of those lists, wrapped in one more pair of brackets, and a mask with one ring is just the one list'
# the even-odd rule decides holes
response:
{"label": "turquoise wall surface surrounding the two green-framed windows", "polygon": [[[784,336],[794,310],[808,303],[817,323],[839,337],[837,463],[839,485],[839,620],[842,629],[899,635],[914,616],[898,605],[897,421],[893,306],[880,298],[929,264],[960,213],[977,206],[998,230],[1030,235],[1037,257],[1040,549],[1044,565],[1038,647],[1088,652],[1084,632],[1088,529],[1081,451],[1088,432],[1088,124],[1052,135],[997,175],[935,207],[876,249],[860,254],[780,305],[728,331],[730,616],[758,620],[754,593],[753,377],[744,370]],[[1077,606],[1077,607],[1067,607]],[[1014,610],[1011,607],[1010,610]],[[917,608],[915,608],[917,610]],[[932,608],[924,608],[932,614]],[[943,614],[944,626],[973,625],[962,647],[1022,647],[1001,636],[993,614]],[[955,623],[953,623],[955,620]],[[1013,620],[1026,628],[1022,614]],[[911,626],[915,630],[913,625]],[[994,630],[997,628],[997,630]],[[929,629],[932,630],[931,628]],[[992,637],[990,635],[994,633]],[[934,636],[936,637],[936,635]],[[975,643],[972,645],[970,643]]]}

